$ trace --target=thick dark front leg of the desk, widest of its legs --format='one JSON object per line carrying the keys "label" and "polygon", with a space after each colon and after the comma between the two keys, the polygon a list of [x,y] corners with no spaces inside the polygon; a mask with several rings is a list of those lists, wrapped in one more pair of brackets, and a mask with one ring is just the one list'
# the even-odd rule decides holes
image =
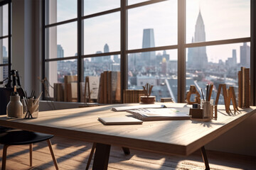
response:
{"label": "thick dark front leg of the desk, widest of its legs", "polygon": [[110,158],[110,147],[111,145],[100,143],[96,144],[92,170],[107,170],[107,165]]}

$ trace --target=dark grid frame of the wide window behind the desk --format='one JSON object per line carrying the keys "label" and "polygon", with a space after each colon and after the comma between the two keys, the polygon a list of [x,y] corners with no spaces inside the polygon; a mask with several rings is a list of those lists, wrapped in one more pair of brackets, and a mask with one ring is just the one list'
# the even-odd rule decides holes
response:
{"label": "dark grid frame of the wide window behind the desk", "polygon": [[[253,56],[255,56],[255,50],[252,48],[255,46],[255,21],[252,21],[252,18],[255,18],[255,2],[253,0],[250,0],[251,2],[251,35],[250,37],[245,38],[233,38],[233,39],[223,39],[223,40],[213,40],[213,41],[206,41],[206,42],[193,42],[193,43],[187,43],[186,42],[186,0],[177,0],[178,1],[178,44],[177,45],[166,45],[166,46],[160,46],[160,47],[149,47],[149,48],[139,48],[139,49],[133,49],[128,50],[127,49],[127,21],[128,21],[128,10],[131,8],[137,8],[140,6],[146,6],[150,4],[156,4],[160,3],[162,1],[167,0],[151,0],[151,1],[144,1],[137,4],[132,4],[128,6],[128,0],[120,0],[120,7],[119,8],[113,8],[107,11],[101,11],[99,13],[93,13],[87,16],[83,15],[83,1],[78,0],[78,18],[73,18],[68,21],[62,21],[59,23],[53,23],[46,25],[45,23],[45,15],[46,15],[46,0],[43,0],[43,77],[45,77],[46,72],[46,62],[52,62],[52,61],[61,61],[61,60],[70,60],[70,59],[77,59],[78,60],[78,101],[80,100],[80,88],[79,84],[82,82],[83,79],[83,60],[87,57],[103,57],[106,55],[120,55],[120,68],[121,68],[121,90],[127,89],[127,56],[131,53],[137,53],[137,52],[151,52],[151,51],[157,51],[157,50],[178,50],[178,102],[184,102],[185,101],[185,92],[186,92],[186,48],[188,47],[205,47],[210,45],[226,45],[226,44],[232,44],[232,43],[240,43],[240,42],[250,42],[251,43],[251,91],[252,91],[252,104],[255,105],[256,100],[256,80],[253,78],[255,77],[255,69],[253,69],[256,66],[255,59]],[[83,48],[83,28],[82,28],[82,22],[87,18],[93,18],[96,16],[103,16],[109,13],[114,12],[120,12],[120,51],[116,52],[107,52],[107,53],[101,53],[101,54],[90,54],[90,55],[82,55],[82,48]],[[64,57],[64,58],[54,58],[54,59],[46,59],[46,41],[45,41],[45,30],[46,28],[50,28],[52,26],[59,26],[61,24],[70,23],[73,21],[78,21],[78,56],[76,57]],[[254,34],[252,33],[252,30],[254,30]],[[252,38],[252,36],[254,38]],[[254,45],[254,46],[253,46]],[[44,91],[44,89],[43,89]],[[122,94],[122,93],[121,93]],[[45,96],[43,95],[43,99],[45,100]]]}

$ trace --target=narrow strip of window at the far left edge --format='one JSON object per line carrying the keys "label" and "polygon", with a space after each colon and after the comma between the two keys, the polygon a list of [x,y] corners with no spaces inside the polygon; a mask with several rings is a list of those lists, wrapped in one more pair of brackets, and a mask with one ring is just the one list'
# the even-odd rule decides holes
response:
{"label": "narrow strip of window at the far left edge", "polygon": [[[0,2],[0,81],[7,83],[11,70],[11,1]],[[0,85],[3,86],[3,85]]]}

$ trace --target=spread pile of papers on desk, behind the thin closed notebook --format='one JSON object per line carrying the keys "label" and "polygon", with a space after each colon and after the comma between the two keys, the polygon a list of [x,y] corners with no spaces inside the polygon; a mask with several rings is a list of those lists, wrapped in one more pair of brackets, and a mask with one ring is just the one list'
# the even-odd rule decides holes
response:
{"label": "spread pile of papers on desk, behind the thin closed notebook", "polygon": [[190,119],[191,115],[181,112],[176,108],[138,108],[133,110],[127,110],[128,113],[132,113],[134,118],[143,121],[151,120],[186,120]]}

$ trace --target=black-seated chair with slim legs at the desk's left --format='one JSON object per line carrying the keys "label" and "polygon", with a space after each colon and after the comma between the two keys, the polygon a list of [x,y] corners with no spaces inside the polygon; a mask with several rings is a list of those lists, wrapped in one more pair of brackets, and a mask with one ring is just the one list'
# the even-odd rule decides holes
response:
{"label": "black-seated chair with slim legs at the desk's left", "polygon": [[29,145],[30,149],[30,166],[32,166],[32,151],[33,143],[42,142],[47,140],[48,147],[50,149],[50,154],[53,157],[53,163],[55,169],[58,169],[58,164],[53,154],[53,148],[50,143],[50,138],[53,135],[47,135],[39,132],[29,132],[26,130],[6,130],[6,132],[0,133],[0,144],[4,145],[3,147],[3,157],[2,157],[2,170],[6,169],[6,153],[7,147],[11,145]]}

